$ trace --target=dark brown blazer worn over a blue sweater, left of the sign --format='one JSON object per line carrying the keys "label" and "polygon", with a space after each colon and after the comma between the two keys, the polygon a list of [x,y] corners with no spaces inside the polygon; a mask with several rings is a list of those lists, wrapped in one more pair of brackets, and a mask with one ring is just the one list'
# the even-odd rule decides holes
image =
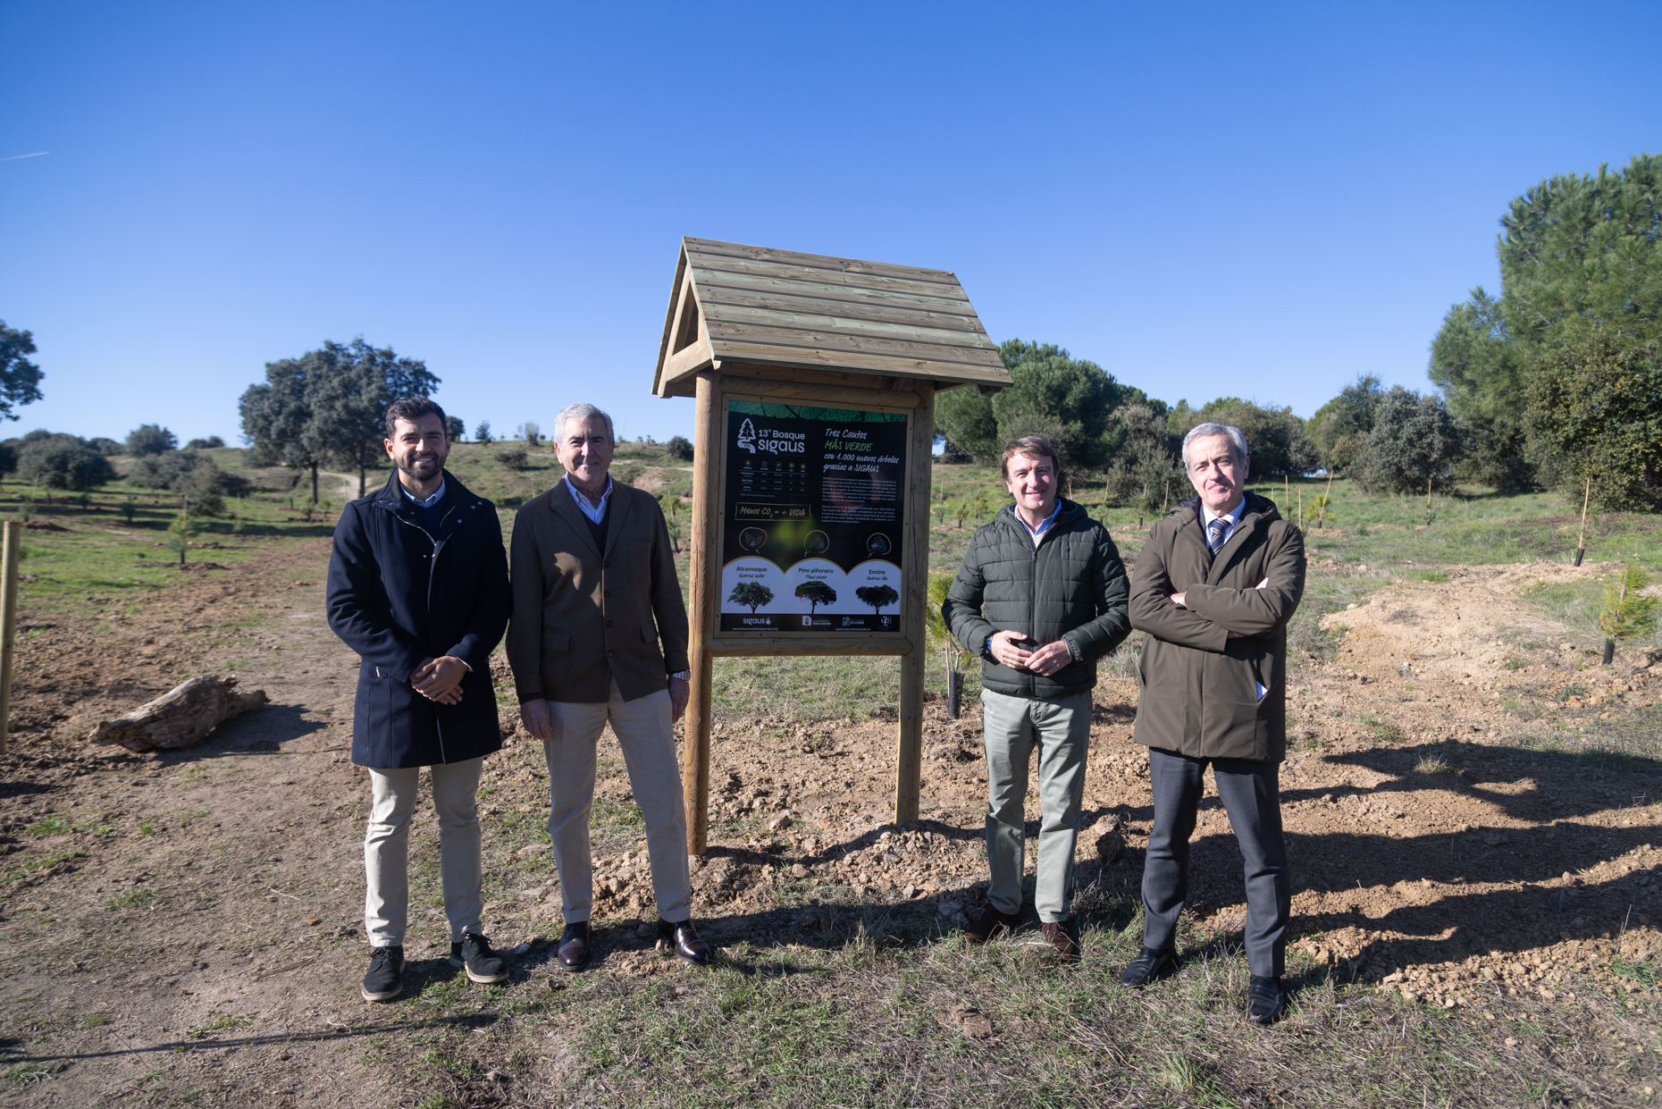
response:
{"label": "dark brown blazer worn over a blue sweater, left of the sign", "polygon": [[[686,605],[658,500],[612,482],[607,549],[562,479],[514,517],[509,667],[520,702],[605,703],[686,668]],[[661,648],[660,648],[661,640]]]}

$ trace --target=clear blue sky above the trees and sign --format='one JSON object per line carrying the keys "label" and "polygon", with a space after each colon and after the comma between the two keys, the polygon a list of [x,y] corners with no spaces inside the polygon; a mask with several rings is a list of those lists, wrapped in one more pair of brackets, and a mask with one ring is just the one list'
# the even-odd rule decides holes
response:
{"label": "clear blue sky above the trees and sign", "polygon": [[[1662,150],[1662,8],[0,0],[13,431],[236,442],[364,336],[469,427],[650,394],[681,234],[959,274],[1167,401],[1428,387],[1507,200]],[[42,156],[20,156],[47,151]]]}

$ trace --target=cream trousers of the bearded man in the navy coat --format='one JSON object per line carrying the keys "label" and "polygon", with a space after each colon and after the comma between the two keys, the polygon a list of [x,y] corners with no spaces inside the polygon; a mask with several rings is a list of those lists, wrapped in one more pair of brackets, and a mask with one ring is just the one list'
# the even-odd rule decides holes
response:
{"label": "cream trousers of the bearded man in the navy coat", "polygon": [[[479,858],[479,771],[484,758],[439,763],[432,771],[432,808],[439,813],[439,878],[450,943],[480,931],[484,911]],[[364,833],[364,934],[371,948],[402,948],[411,909],[411,813],[420,766],[369,770],[369,830]]]}

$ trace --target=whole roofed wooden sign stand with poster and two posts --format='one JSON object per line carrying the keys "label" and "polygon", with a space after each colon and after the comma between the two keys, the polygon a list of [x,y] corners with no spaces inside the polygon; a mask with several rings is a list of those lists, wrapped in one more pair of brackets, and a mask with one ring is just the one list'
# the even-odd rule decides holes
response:
{"label": "whole roofed wooden sign stand with poster and two posts", "polygon": [[934,404],[966,384],[1010,377],[951,273],[681,239],[653,392],[696,397],[695,855],[716,657],[899,655],[894,820],[917,818]]}

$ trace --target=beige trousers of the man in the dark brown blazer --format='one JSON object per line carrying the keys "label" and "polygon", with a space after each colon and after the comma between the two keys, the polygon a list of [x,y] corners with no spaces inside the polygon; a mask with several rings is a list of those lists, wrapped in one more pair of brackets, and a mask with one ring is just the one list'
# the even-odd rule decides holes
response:
{"label": "beige trousers of the man in the dark brown blazer", "polygon": [[658,916],[680,924],[693,914],[693,886],[686,870],[686,805],[681,801],[681,765],[675,757],[675,720],[670,692],[658,690],[632,702],[612,683],[605,705],[548,702],[552,728],[543,742],[548,758],[548,835],[553,863],[560,868],[560,908],[567,924],[593,914],[593,860],[588,855],[588,813],[595,800],[595,743],[612,723],[623,748],[628,783],[647,821],[647,856],[652,860],[652,895]]}

